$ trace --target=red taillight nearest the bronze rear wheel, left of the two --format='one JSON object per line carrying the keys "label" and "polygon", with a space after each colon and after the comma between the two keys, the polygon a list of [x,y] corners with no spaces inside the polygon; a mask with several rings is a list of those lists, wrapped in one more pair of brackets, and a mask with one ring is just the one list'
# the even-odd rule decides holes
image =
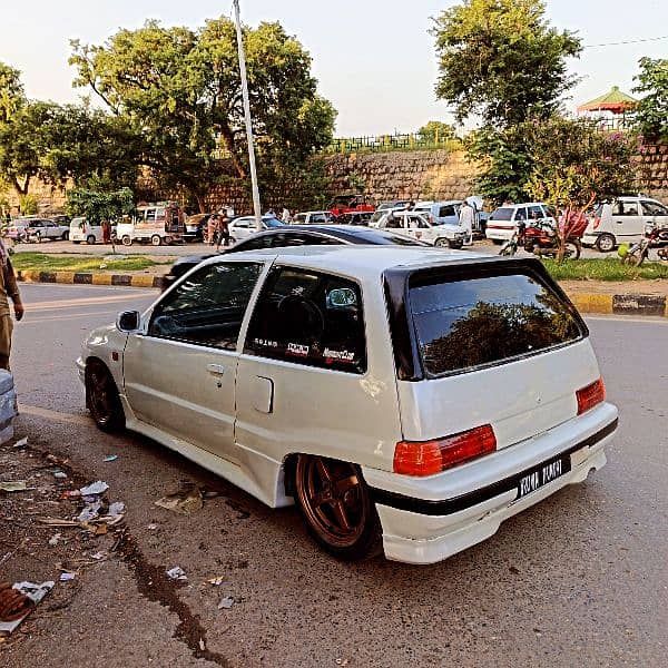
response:
{"label": "red taillight nearest the bronze rear wheel, left of the two", "polygon": [[434,441],[401,441],[394,449],[394,472],[432,475],[494,450],[497,436],[489,424]]}

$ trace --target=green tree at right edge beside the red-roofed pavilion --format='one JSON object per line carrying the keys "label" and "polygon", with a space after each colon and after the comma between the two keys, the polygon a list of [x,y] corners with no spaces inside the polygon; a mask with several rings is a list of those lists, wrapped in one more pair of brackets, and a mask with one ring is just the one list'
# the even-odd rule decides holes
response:
{"label": "green tree at right edge beside the red-roofed pavilion", "polygon": [[668,58],[640,59],[633,92],[644,94],[636,107],[636,125],[646,138],[668,140]]}

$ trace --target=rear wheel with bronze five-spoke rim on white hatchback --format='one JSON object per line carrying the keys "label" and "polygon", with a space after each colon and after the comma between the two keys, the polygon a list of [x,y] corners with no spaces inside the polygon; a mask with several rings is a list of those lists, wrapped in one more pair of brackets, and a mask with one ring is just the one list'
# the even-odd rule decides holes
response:
{"label": "rear wheel with bronze five-spoke rim on white hatchback", "polygon": [[301,454],[293,490],[308,533],[330,554],[354,561],[379,551],[381,523],[356,464]]}

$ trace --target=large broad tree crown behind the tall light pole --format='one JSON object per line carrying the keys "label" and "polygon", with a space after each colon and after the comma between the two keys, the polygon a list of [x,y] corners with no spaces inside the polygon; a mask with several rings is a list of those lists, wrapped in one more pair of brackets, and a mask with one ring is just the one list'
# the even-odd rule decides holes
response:
{"label": "large broad tree crown behind the tall light pole", "polygon": [[[250,110],[263,171],[302,163],[332,137],[335,111],[316,92],[311,57],[278,23],[244,28]],[[209,20],[197,31],[148,21],[120,30],[104,46],[72,42],[76,86],[90,86],[132,125],[143,164],[165,188],[186,188],[204,210],[205,194],[247,175],[244,111],[234,23]],[[277,166],[277,170],[283,168]],[[227,175],[229,176],[229,175]]]}

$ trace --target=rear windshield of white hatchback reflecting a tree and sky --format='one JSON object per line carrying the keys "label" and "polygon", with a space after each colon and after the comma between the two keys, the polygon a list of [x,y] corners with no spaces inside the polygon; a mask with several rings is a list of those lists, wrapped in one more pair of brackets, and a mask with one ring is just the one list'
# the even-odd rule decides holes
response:
{"label": "rear windshield of white hatchback reflecting a tree and sky", "polygon": [[410,310],[425,374],[465,373],[584,335],[574,311],[538,276],[411,278]]}

